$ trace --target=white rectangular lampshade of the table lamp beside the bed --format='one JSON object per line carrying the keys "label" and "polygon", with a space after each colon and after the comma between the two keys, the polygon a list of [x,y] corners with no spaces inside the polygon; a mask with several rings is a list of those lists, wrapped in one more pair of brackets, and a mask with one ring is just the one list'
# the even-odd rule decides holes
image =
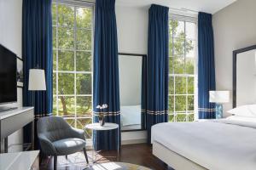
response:
{"label": "white rectangular lampshade of the table lamp beside the bed", "polygon": [[229,103],[230,102],[230,91],[210,91],[210,102],[211,103]]}

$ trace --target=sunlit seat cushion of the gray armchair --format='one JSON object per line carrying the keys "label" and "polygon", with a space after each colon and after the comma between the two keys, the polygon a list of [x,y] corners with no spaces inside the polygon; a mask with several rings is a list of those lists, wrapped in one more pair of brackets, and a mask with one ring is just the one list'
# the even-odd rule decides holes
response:
{"label": "sunlit seat cushion of the gray armchair", "polygon": [[66,156],[82,150],[85,146],[85,141],[83,139],[69,138],[56,140],[53,145],[59,156]]}

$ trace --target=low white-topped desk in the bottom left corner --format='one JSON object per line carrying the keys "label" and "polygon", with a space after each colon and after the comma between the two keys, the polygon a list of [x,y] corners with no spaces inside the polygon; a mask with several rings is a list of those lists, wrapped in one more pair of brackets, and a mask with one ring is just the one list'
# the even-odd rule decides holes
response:
{"label": "low white-topped desk in the bottom left corner", "polygon": [[39,169],[39,150],[0,154],[0,169]]}

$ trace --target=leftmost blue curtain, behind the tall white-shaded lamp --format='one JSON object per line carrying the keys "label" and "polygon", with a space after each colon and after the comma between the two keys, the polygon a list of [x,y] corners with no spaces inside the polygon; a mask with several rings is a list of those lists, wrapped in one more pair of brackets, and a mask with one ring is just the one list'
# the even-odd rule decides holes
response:
{"label": "leftmost blue curtain, behind the tall white-shaded lamp", "polygon": [[[23,105],[34,106],[35,117],[52,113],[52,26],[51,0],[23,0],[22,56],[24,59]],[[29,69],[45,71],[44,92],[28,91]],[[35,104],[33,105],[33,99]],[[24,140],[30,139],[30,128],[25,127]]]}

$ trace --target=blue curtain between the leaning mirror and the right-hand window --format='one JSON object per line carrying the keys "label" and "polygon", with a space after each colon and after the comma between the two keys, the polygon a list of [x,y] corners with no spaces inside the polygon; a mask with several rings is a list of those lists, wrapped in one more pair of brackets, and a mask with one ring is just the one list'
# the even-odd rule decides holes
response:
{"label": "blue curtain between the leaning mirror and the right-hand window", "polygon": [[151,127],[168,122],[168,10],[152,5],[148,15],[148,99],[147,131],[151,140]]}

